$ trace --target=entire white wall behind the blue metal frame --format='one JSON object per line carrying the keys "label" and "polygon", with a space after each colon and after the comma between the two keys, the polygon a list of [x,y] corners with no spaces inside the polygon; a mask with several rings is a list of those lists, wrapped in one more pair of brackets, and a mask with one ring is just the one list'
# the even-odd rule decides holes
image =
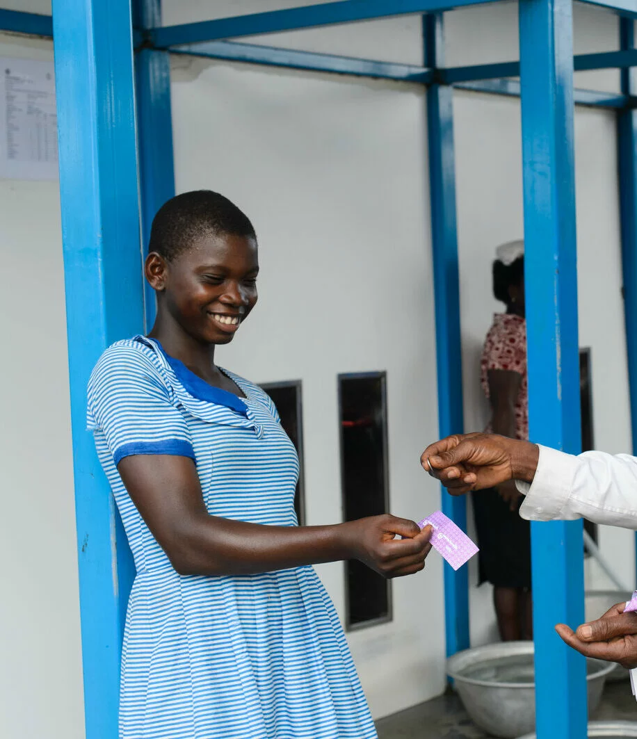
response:
{"label": "entire white wall behind the blue metal frame", "polygon": [[[50,12],[48,0],[1,4]],[[301,4],[307,2],[165,0],[165,21]],[[616,48],[609,14],[578,6],[575,22],[577,52]],[[450,65],[517,57],[515,4],[450,13],[447,30]],[[422,59],[414,17],[251,41]],[[50,58],[51,47],[3,36],[0,55]],[[614,90],[617,75],[590,72],[577,84]],[[423,92],[176,58],[173,102],[178,190],[218,188],[245,208],[259,233],[259,308],[219,360],[256,381],[303,379],[308,522],[340,520],[336,375],[364,369],[388,372],[392,511],[415,519],[434,511],[437,488],[418,466],[423,445],[437,435]],[[519,104],[459,93],[455,112],[466,415],[468,428],[476,428],[484,419],[475,358],[496,307],[490,260],[497,243],[521,234]],[[630,448],[630,429],[612,121],[597,111],[576,117],[581,343],[593,347],[596,444],[615,452]],[[16,358],[0,365],[11,388],[0,428],[0,555],[11,563],[0,579],[10,593],[0,605],[0,735],[81,739],[58,190],[55,183],[5,180],[0,191],[0,321]],[[632,534],[602,530],[601,541],[630,585]],[[342,614],[342,565],[319,569]],[[590,570],[589,581],[603,584]],[[471,592],[475,641],[492,631],[488,597],[487,588]],[[394,601],[392,624],[350,636],[377,716],[443,689],[437,555],[424,573],[395,582]]]}

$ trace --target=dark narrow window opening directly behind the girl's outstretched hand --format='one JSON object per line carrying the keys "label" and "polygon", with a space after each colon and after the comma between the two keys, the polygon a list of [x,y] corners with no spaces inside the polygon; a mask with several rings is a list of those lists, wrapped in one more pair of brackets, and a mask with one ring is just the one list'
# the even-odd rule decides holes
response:
{"label": "dark narrow window opening directly behind the girl's outstretched hand", "polygon": [[[386,373],[338,375],[344,520],[388,508]],[[346,626],[392,619],[391,584],[362,562],[345,562]]]}

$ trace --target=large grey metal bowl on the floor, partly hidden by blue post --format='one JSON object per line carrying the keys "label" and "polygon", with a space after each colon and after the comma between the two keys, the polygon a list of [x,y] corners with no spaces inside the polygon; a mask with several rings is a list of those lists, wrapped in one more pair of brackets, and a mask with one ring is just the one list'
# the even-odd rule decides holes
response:
{"label": "large grey metal bowl on the floor, partly hidden by blue post", "polygon": [[[535,728],[534,644],[505,641],[454,654],[447,675],[474,723],[489,734],[514,739]],[[587,658],[588,710],[602,698],[614,664]]]}

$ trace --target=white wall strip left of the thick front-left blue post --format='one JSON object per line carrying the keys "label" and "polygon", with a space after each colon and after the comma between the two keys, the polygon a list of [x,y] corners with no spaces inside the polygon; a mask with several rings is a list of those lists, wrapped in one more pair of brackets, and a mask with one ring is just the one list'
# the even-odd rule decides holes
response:
{"label": "white wall strip left of the thick front-left blue post", "polygon": [[[0,38],[0,56],[52,45]],[[56,182],[0,180],[0,736],[84,737]]]}

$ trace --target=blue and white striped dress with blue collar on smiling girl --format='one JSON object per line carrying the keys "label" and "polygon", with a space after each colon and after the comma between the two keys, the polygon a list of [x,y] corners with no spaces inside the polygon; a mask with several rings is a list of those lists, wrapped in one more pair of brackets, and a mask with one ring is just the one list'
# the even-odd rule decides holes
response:
{"label": "blue and white striped dress with blue collar on smiling girl", "polygon": [[89,429],[137,568],[124,634],[120,739],[376,737],[350,650],[311,567],[183,576],[117,472],[130,454],[192,457],[211,515],[296,525],[299,460],[272,401],[213,388],[137,336],[103,353]]}

